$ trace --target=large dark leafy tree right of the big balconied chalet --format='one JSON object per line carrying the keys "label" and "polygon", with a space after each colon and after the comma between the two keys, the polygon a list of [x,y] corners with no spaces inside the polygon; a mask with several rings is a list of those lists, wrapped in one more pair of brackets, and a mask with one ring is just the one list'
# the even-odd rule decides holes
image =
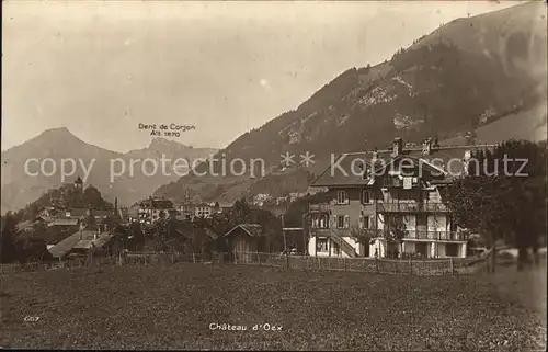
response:
{"label": "large dark leafy tree right of the big balconied chalet", "polygon": [[457,225],[481,234],[492,247],[492,271],[498,240],[517,247],[518,270],[528,261],[528,248],[537,259],[546,236],[546,148],[523,140],[476,152],[468,175],[447,192]]}

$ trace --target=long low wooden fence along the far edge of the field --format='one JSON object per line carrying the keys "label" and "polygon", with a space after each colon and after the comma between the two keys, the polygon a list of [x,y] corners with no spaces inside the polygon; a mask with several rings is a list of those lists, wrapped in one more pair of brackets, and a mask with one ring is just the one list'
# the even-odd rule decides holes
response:
{"label": "long low wooden fence along the far edge of the field", "polygon": [[178,252],[128,252],[117,257],[80,257],[48,263],[3,264],[1,273],[113,265],[172,265],[175,263],[249,264],[297,270],[328,270],[400,275],[470,274],[484,268],[484,259],[376,259],[284,256],[264,252],[230,252],[203,256]]}

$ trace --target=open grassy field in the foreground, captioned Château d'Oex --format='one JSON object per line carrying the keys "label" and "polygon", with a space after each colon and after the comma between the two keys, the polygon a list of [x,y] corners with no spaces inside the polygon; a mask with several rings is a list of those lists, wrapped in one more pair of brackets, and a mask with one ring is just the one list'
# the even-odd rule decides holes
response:
{"label": "open grassy field in the foreground, captioned Ch\u00e2teau d'Oex", "polygon": [[431,277],[202,264],[58,270],[2,275],[1,303],[1,345],[13,348],[515,351],[546,340],[546,272],[515,268]]}

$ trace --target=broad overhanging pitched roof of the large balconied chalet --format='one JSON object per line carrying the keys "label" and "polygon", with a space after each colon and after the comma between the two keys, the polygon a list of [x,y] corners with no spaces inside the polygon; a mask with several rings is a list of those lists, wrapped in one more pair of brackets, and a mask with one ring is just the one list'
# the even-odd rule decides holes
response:
{"label": "broad overhanging pitched roof of the large balconied chalet", "polygon": [[[464,156],[467,150],[493,148],[495,145],[472,146],[437,146],[429,155],[423,155],[422,148],[408,148],[397,159],[409,158],[421,161],[426,168],[442,169],[450,175],[464,171]],[[349,152],[339,156],[310,186],[365,185],[368,180],[363,178],[366,168],[372,167],[373,151]],[[377,160],[381,166],[390,164],[395,160],[391,150],[378,150]],[[446,177],[450,181],[452,177]]]}

